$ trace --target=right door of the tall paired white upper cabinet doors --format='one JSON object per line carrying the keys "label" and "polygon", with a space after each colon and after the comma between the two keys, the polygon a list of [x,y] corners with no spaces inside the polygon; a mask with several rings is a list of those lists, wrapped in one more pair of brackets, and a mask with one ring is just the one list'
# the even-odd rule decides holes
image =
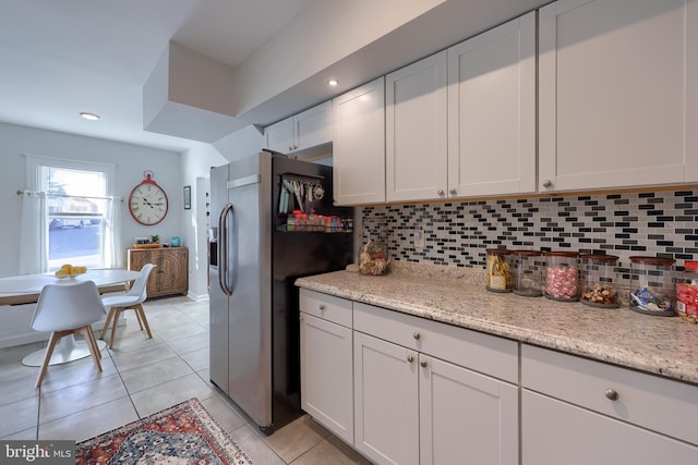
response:
{"label": "right door of the tall paired white upper cabinet doors", "polygon": [[535,12],[448,49],[448,196],[535,191]]}

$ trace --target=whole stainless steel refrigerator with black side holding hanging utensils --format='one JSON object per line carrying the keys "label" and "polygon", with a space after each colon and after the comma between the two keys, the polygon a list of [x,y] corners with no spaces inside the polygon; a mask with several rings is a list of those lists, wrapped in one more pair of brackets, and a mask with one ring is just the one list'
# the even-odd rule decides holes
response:
{"label": "whole stainless steel refrigerator with black side holding hanging utensils", "polygon": [[332,168],[260,152],[210,170],[210,381],[266,433],[300,414],[297,278],[352,261]]}

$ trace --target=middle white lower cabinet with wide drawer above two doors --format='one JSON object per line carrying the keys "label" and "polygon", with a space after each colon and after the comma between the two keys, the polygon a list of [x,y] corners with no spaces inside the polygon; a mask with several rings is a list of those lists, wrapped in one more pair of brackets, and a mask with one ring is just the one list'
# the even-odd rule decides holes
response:
{"label": "middle white lower cabinet with wide drawer above two doors", "polygon": [[360,303],[353,343],[361,453],[378,464],[518,465],[518,387],[446,359],[518,379],[517,343]]}

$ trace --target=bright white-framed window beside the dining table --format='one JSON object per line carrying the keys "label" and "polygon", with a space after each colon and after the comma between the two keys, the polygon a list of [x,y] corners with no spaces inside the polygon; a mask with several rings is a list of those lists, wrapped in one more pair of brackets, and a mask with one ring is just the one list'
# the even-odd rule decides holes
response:
{"label": "bright white-framed window beside the dining table", "polygon": [[40,271],[63,264],[119,267],[119,200],[109,197],[113,166],[27,157],[27,173],[32,189],[44,199],[36,228]]}

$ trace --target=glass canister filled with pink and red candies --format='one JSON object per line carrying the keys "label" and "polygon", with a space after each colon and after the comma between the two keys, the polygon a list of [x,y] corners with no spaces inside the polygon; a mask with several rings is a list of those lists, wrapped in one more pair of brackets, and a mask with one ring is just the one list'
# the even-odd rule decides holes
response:
{"label": "glass canister filled with pink and red candies", "polygon": [[545,253],[545,297],[554,301],[579,299],[577,252]]}

